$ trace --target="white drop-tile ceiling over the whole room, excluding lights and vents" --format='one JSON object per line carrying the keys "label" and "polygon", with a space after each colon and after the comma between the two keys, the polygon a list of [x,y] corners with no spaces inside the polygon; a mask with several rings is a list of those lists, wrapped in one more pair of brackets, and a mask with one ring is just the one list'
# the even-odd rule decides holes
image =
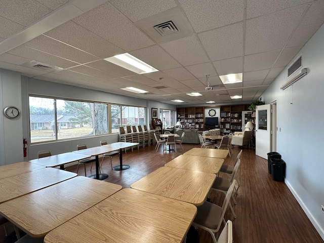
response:
{"label": "white drop-tile ceiling over the whole room, excluding lights and vents", "polygon": [[[324,22],[324,0],[0,0],[0,6],[0,68],[170,104],[257,99]],[[153,26],[169,20],[178,32],[157,35]],[[126,52],[159,71],[139,75],[103,60]],[[36,62],[59,68],[32,67]],[[242,83],[222,85],[219,75],[238,72]],[[207,74],[219,85],[213,91],[205,90]],[[129,86],[149,93],[120,90]]]}

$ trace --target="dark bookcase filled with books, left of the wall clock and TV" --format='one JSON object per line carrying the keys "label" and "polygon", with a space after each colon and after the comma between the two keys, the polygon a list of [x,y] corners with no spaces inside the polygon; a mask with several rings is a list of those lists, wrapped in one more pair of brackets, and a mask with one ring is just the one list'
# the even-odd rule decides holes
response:
{"label": "dark bookcase filled with books, left of the wall clock and TV", "polygon": [[177,121],[185,129],[196,128],[204,130],[204,107],[179,107],[177,108]]}

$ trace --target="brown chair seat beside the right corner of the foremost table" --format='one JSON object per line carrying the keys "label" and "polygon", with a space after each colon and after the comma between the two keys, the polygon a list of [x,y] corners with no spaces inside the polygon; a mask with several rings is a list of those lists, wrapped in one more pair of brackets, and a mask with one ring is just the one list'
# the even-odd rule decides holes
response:
{"label": "brown chair seat beside the right corner of the foremost table", "polygon": [[197,207],[197,215],[193,222],[203,225],[210,229],[217,229],[221,222],[219,218],[222,216],[222,208],[216,204],[205,201],[203,205]]}

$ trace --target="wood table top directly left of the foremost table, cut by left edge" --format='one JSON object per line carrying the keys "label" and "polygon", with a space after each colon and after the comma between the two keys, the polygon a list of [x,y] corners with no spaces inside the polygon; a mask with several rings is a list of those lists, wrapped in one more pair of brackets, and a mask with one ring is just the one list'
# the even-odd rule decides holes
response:
{"label": "wood table top directly left of the foremost table, cut by left edge", "polygon": [[120,185],[78,176],[0,204],[0,213],[30,236],[44,237],[120,189]]}

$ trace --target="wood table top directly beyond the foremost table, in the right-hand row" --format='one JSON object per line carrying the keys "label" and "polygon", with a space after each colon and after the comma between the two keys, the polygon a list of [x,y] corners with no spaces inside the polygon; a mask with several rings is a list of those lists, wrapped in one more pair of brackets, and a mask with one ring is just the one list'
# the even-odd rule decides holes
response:
{"label": "wood table top directly beyond the foremost table, in the right-hand row", "polygon": [[212,173],[160,167],[133,183],[131,188],[201,206],[215,178]]}

